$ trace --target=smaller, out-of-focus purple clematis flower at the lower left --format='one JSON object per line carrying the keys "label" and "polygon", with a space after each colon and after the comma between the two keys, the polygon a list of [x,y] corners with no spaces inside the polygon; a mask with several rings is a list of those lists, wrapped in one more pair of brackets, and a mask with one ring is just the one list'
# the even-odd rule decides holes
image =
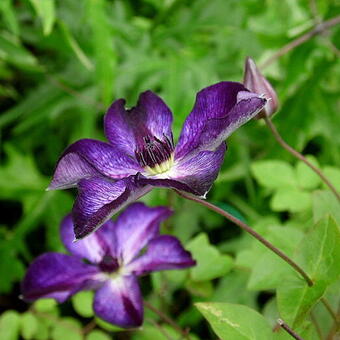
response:
{"label": "smaller, out-of-focus purple clematis flower at the lower left", "polygon": [[[78,242],[73,242],[71,217],[65,217],[61,238],[72,255],[46,253],[38,257],[22,282],[23,298],[64,302],[80,290],[94,289],[93,309],[99,317],[123,328],[140,326],[143,302],[137,277],[195,265],[177,238],[159,234],[160,223],[170,215],[165,207],[134,203],[115,222],[106,222]],[[145,247],[146,252],[140,255]]]}

